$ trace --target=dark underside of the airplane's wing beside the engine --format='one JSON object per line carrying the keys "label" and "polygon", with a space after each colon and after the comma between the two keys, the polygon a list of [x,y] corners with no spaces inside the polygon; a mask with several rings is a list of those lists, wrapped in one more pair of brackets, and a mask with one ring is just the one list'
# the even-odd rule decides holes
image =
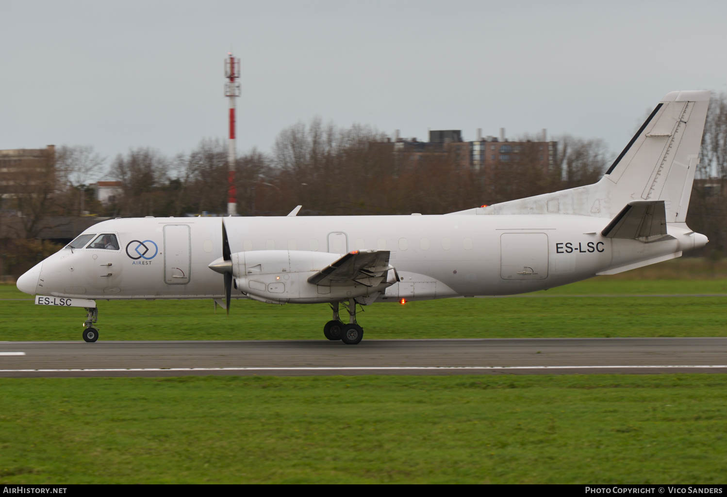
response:
{"label": "dark underside of the airplane's wing beside the engine", "polygon": [[389,250],[353,250],[310,276],[308,282],[325,287],[345,287],[353,283],[366,287],[381,284],[387,276]]}

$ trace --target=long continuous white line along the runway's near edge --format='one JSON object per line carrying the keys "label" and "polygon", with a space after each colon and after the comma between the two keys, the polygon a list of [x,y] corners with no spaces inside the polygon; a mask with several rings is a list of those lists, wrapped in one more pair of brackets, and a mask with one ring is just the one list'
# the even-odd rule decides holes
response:
{"label": "long continuous white line along the runway's near edge", "polygon": [[320,367],[238,367],[238,368],[105,368],[105,369],[0,369],[0,373],[104,373],[142,371],[488,371],[524,369],[718,369],[727,365],[695,366],[320,366]]}

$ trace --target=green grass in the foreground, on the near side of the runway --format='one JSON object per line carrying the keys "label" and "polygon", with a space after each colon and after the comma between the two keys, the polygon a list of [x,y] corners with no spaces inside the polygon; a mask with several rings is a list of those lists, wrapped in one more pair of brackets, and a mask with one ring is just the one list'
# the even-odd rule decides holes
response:
{"label": "green grass in the foreground, on the near side of the runway", "polygon": [[727,375],[0,379],[1,483],[720,483]]}

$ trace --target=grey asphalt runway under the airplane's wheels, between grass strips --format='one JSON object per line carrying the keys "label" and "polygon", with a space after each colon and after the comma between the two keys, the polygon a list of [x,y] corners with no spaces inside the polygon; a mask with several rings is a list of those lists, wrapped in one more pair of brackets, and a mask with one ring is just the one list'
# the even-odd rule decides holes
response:
{"label": "grey asphalt runway under the airplane's wheels, between grass strips", "polygon": [[727,338],[0,342],[0,377],[727,373]]}

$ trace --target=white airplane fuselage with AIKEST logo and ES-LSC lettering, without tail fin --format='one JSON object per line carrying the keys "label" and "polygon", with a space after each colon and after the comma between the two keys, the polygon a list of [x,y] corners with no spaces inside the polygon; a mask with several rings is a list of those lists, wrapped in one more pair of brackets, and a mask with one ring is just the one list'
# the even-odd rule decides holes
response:
{"label": "white airplane fuselage with AIKEST logo and ES-LSC lettering, without tail fin", "polygon": [[[683,223],[670,223],[673,238],[654,243],[603,237],[606,223],[584,215],[225,218],[233,253],[389,250],[399,281],[366,303],[532,292],[702,245]],[[208,268],[222,255],[222,218],[119,218],[84,233],[114,234],[119,248],[65,247],[39,264],[33,293],[109,300],[224,297],[222,277]],[[285,284],[290,274],[270,277]],[[342,300],[299,300],[279,290],[270,298]]]}

